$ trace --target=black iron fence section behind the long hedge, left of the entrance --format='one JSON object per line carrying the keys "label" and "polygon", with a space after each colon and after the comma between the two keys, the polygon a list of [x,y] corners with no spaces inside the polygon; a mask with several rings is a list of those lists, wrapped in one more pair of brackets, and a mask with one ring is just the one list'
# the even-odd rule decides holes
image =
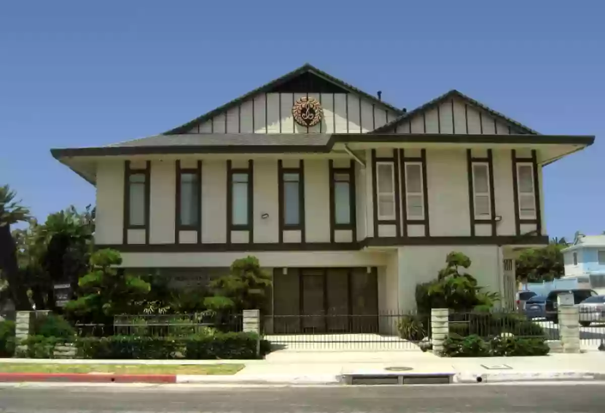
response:
{"label": "black iron fence section behind the long hedge, left of the entrance", "polygon": [[212,331],[242,331],[241,314],[129,314],[107,324],[78,323],[79,336],[183,337]]}

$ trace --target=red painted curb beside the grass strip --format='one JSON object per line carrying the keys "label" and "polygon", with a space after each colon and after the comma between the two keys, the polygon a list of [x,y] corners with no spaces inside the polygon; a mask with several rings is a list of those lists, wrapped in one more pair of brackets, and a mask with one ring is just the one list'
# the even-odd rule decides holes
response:
{"label": "red painted curb beside the grass strip", "polygon": [[175,374],[1,373],[0,382],[176,383]]}

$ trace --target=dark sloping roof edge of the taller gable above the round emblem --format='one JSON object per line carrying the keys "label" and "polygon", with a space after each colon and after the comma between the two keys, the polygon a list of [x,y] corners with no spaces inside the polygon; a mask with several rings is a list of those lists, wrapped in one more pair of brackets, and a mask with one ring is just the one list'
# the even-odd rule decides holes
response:
{"label": "dark sloping roof edge of the taller gable above the round emblem", "polygon": [[212,117],[214,117],[215,115],[221,114],[222,112],[227,111],[227,110],[233,108],[234,106],[237,106],[240,103],[243,103],[244,101],[246,101],[248,99],[251,99],[253,96],[256,96],[257,94],[266,93],[267,91],[270,91],[270,89],[273,89],[276,86],[283,85],[284,83],[289,82],[290,80],[294,79],[297,76],[301,76],[301,74],[304,74],[304,73],[312,73],[315,76],[318,76],[324,80],[327,80],[328,82],[333,83],[336,86],[339,86],[350,93],[358,94],[359,96],[362,96],[365,99],[368,99],[373,103],[378,103],[379,105],[383,105],[383,106],[391,109],[392,111],[396,112],[397,114],[403,113],[401,109],[397,109],[395,106],[390,105],[386,102],[383,102],[382,100],[379,100],[377,97],[372,96],[371,94],[365,93],[364,91],[356,88],[355,86],[352,86],[346,82],[343,82],[342,80],[337,79],[336,77],[333,77],[330,74],[327,74],[324,71],[319,70],[318,68],[310,65],[309,63],[305,63],[298,69],[293,70],[290,73],[286,73],[286,74],[284,74],[284,76],[278,77],[277,79],[274,79],[271,82],[266,83],[263,86],[260,86],[260,88],[256,88],[256,89],[238,97],[237,99],[231,100],[231,102],[227,102],[223,106],[218,106],[218,108],[213,109],[212,111],[210,111],[206,114],[203,114],[203,115],[195,118],[194,120],[191,120],[191,121],[185,123],[184,125],[177,126],[177,128],[164,132],[163,135],[178,135],[178,134],[186,133],[189,129],[191,129],[193,126],[197,125],[198,123],[209,120]]}

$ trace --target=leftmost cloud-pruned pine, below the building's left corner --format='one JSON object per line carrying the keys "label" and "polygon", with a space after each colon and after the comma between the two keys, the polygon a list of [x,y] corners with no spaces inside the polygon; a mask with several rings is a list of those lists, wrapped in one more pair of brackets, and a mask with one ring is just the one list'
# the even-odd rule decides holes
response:
{"label": "leftmost cloud-pruned pine, below the building's left corner", "polygon": [[79,298],[65,304],[68,313],[94,322],[105,322],[117,314],[136,312],[151,288],[137,276],[128,275],[116,265],[122,257],[116,250],[99,250],[90,258],[91,272],[78,281]]}

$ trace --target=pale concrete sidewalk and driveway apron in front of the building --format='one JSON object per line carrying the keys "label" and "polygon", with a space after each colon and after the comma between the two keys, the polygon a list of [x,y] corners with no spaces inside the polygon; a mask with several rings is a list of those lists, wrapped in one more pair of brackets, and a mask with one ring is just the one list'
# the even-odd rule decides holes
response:
{"label": "pale concrete sidewalk and driveway apron in front of the building", "polygon": [[421,351],[276,351],[266,360],[40,360],[1,363],[220,364],[243,363],[232,376],[175,376],[177,383],[338,385],[351,376],[450,376],[454,383],[605,380],[605,353],[543,357],[442,358]]}

